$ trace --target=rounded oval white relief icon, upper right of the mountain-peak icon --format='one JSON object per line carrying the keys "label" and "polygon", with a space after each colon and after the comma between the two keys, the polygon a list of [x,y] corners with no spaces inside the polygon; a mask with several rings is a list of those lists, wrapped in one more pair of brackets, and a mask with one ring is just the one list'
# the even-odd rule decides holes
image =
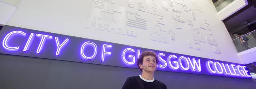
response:
{"label": "rounded oval white relief icon, upper right of the mountain-peak icon", "polygon": [[172,18],[174,20],[182,23],[186,22],[180,11],[172,9],[172,12],[173,12]]}

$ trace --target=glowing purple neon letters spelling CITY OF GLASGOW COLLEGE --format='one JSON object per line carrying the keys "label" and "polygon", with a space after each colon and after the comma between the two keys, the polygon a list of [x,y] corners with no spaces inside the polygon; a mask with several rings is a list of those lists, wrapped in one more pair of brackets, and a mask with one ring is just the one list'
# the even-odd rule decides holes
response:
{"label": "glowing purple neon letters spelling CITY OF GLASGOW COLLEGE", "polygon": [[[2,31],[2,32],[5,32],[5,31]],[[19,45],[17,47],[11,47],[12,45],[16,45],[16,44],[13,44],[13,43],[10,43],[10,42],[13,41],[14,39],[16,39],[15,38],[16,36],[20,36],[20,35],[26,37],[26,33],[22,32],[22,31],[12,31],[12,32],[8,33],[2,41],[3,48],[7,49],[9,51],[19,50],[19,48],[20,48]],[[42,49],[44,49],[43,47],[44,47],[44,43],[45,43],[46,39],[52,38],[52,36],[42,35],[42,34],[36,34],[36,36],[41,38],[41,41],[40,41],[39,46],[38,46],[37,51],[36,51],[37,53],[40,53],[40,52],[42,52]],[[34,42],[34,40],[33,40],[34,37],[35,37],[34,33],[31,33],[30,36],[28,37],[28,39],[25,38],[27,41],[24,41],[24,43],[26,42],[26,44],[24,46],[23,51],[21,51],[21,52],[30,53],[30,52],[25,52],[25,51],[28,51],[28,50],[30,50],[29,48],[32,48],[32,47],[30,47],[30,45],[32,46],[32,41]],[[69,40],[70,39],[67,38],[65,41],[59,42],[59,38],[55,37],[55,42],[56,42],[56,45],[57,45],[56,55],[59,55],[60,52],[62,52],[62,49],[69,42]],[[79,41],[80,41],[80,39],[79,39]],[[72,44],[72,45],[74,45],[74,44]],[[91,54],[86,54],[86,52],[87,52],[86,47],[88,47],[88,46],[94,47],[94,49],[92,49],[92,50],[94,50],[94,54],[92,54],[92,56],[91,56]],[[54,49],[55,47],[50,47],[50,48]],[[105,60],[105,56],[108,55],[108,54],[111,54],[111,52],[112,52],[112,51],[108,51],[108,50],[106,51],[106,48],[109,48],[109,49],[111,48],[112,49],[112,45],[106,45],[106,44],[103,45],[101,61],[108,61],[108,60]],[[135,48],[136,47],[134,47],[134,49]],[[122,52],[121,56],[122,56],[122,59],[123,59],[124,63],[128,64],[128,66],[127,65],[126,66],[121,65],[122,67],[132,67],[132,66],[134,66],[135,57],[139,58],[139,56],[140,56],[140,50],[139,49],[134,50],[134,49],[133,48],[126,48],[123,51],[119,50],[119,52]],[[135,51],[137,51],[137,53]],[[17,53],[17,52],[10,52],[10,54],[14,54],[14,53]],[[159,53],[158,57],[162,61],[159,65],[157,65],[157,66],[161,67],[161,69],[159,69],[159,70],[172,71],[173,72],[175,69],[177,69],[177,70],[175,70],[175,72],[182,72],[182,73],[196,73],[195,71],[197,71],[197,72],[204,71],[204,72],[196,73],[196,74],[230,76],[230,77],[237,77],[237,78],[241,78],[241,77],[249,78],[249,77],[251,77],[249,75],[248,70],[245,69],[246,67],[242,66],[242,64],[237,64],[237,63],[228,64],[229,62],[222,63],[221,61],[214,61],[214,60],[211,60],[211,59],[206,59],[206,60],[201,60],[201,62],[204,64],[202,66],[202,69],[201,69],[201,63],[200,63],[200,59],[199,59],[200,57],[195,57],[195,58],[190,59],[191,56],[185,56],[184,57],[184,56],[182,56],[182,54],[173,53],[173,54],[177,55],[178,57],[175,56],[175,55],[170,55],[168,57],[168,60],[165,60],[165,58],[167,57],[167,56],[165,57],[165,54],[167,54],[166,52],[157,51],[157,53]],[[18,55],[20,55],[20,54],[18,54]],[[47,54],[47,55],[49,55],[49,54]],[[82,45],[82,47],[81,47],[81,56],[82,56],[82,58],[92,59],[92,58],[95,58],[96,55],[97,55],[97,46],[94,42],[88,41],[88,42],[85,42]],[[87,56],[90,56],[90,57],[87,57]],[[58,57],[58,56],[54,56],[54,57]],[[106,56],[106,57],[109,58],[110,56]],[[205,59],[205,58],[202,58],[202,59]],[[179,61],[177,61],[177,60],[179,60]],[[209,61],[209,60],[211,60],[211,61]],[[108,63],[108,62],[101,62],[101,63]],[[112,64],[110,64],[110,65],[112,66]],[[113,64],[113,65],[116,66],[115,64]],[[120,66],[120,65],[117,65],[117,66]],[[169,66],[169,67],[166,68],[167,66]],[[190,68],[190,67],[192,67],[192,68]],[[206,67],[206,68],[204,68],[204,67]],[[191,69],[191,70],[189,70],[189,69]],[[186,70],[188,70],[188,71],[186,71]],[[208,70],[208,71],[205,72],[205,70]]]}

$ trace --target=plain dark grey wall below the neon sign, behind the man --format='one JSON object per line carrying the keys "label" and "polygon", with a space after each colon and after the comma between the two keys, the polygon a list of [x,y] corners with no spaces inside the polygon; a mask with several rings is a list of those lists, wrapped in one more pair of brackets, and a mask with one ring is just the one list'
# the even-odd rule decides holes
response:
{"label": "plain dark grey wall below the neon sign, behind the man", "polygon": [[[120,89],[134,68],[0,54],[0,89]],[[156,71],[168,89],[253,89],[251,79]]]}

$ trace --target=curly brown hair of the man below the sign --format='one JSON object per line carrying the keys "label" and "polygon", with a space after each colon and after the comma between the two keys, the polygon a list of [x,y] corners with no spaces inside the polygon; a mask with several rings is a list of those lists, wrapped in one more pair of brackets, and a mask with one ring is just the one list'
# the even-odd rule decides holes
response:
{"label": "curly brown hair of the man below the sign", "polygon": [[154,51],[144,51],[140,54],[140,57],[137,59],[137,67],[138,69],[142,72],[142,69],[140,68],[140,64],[143,63],[143,58],[145,56],[154,56],[156,58],[156,64],[159,62],[158,58],[157,58],[157,54]]}

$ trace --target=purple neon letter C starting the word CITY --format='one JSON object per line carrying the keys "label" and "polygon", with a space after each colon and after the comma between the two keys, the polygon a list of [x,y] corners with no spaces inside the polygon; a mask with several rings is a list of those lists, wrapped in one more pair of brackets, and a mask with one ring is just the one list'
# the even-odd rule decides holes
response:
{"label": "purple neon letter C starting the word CITY", "polygon": [[12,32],[10,32],[10,33],[8,33],[6,36],[5,36],[5,38],[4,38],[4,40],[2,41],[2,46],[5,48],[5,49],[7,49],[7,50],[9,50],[9,51],[17,51],[17,50],[19,50],[19,46],[17,46],[17,47],[9,47],[8,45],[7,45],[7,41],[8,41],[8,39],[9,39],[9,37],[12,35],[12,34],[17,34],[17,35],[22,35],[22,36],[26,36],[26,33],[25,32],[22,32],[22,31],[12,31]]}

